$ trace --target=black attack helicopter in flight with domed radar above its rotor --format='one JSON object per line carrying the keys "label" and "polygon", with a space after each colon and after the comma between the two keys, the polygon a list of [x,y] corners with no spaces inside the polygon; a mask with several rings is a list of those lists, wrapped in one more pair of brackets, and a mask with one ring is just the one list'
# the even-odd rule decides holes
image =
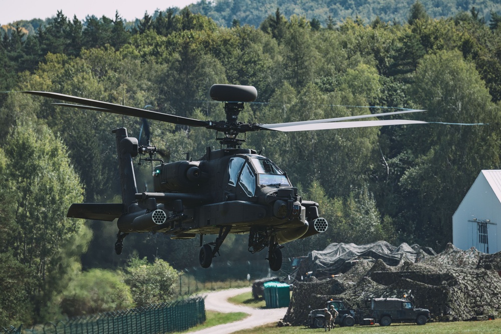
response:
{"label": "black attack helicopter in flight with domed radar above its rotor", "polygon": [[[210,267],[230,233],[248,234],[248,250],[260,252],[268,247],[269,267],[282,267],[282,248],[287,242],[325,232],[328,222],[319,215],[319,204],[298,194],[285,171],[256,150],[242,148],[247,132],[253,131],[315,131],[384,125],[422,124],[416,120],[365,120],[423,110],[404,110],[380,114],[277,124],[238,121],[244,103],[257,99],[253,86],[215,84],[209,90],[211,99],[224,103],[226,120],[203,121],[164,114],[140,108],[91,100],[52,92],[24,93],[53,98],[69,103],[63,107],[97,110],[134,116],[189,127],[204,127],[217,132],[221,148],[206,148],[205,154],[193,160],[167,162],[153,158],[156,146],[139,145],[124,127],[115,134],[120,171],[122,203],[74,203],[68,209],[71,218],[114,221],[118,233],[115,251],[121,254],[123,240],[129,233],[153,232],[170,235],[171,239],[200,236],[199,262]],[[153,168],[153,192],[138,192],[133,158],[158,162]],[[140,158],[141,159],[141,158]],[[205,235],[216,235],[204,243]]]}

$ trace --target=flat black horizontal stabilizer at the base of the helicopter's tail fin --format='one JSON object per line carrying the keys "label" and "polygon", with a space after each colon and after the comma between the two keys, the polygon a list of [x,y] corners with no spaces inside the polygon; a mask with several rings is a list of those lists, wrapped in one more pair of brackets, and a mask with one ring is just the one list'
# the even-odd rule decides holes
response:
{"label": "flat black horizontal stabilizer at the base of the helicopter's tail fin", "polygon": [[113,221],[124,212],[122,203],[73,203],[67,217]]}

